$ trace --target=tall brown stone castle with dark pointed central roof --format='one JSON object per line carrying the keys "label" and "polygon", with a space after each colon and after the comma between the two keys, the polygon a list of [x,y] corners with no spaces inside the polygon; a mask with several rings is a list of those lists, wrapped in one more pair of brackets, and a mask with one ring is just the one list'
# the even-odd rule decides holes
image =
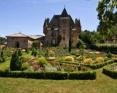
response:
{"label": "tall brown stone castle with dark pointed central roof", "polygon": [[64,48],[76,47],[81,32],[80,20],[75,19],[67,13],[64,8],[61,15],[54,15],[50,20],[45,19],[43,33],[45,34],[45,46],[61,46]]}

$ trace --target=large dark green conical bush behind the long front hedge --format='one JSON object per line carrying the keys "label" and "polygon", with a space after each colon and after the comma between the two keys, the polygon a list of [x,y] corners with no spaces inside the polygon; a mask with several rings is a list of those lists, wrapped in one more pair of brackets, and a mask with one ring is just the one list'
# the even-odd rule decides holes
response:
{"label": "large dark green conical bush behind the long front hedge", "polygon": [[10,62],[10,70],[21,70],[22,68],[22,62],[21,58],[18,55],[18,51],[15,51],[14,54],[12,54],[11,62]]}

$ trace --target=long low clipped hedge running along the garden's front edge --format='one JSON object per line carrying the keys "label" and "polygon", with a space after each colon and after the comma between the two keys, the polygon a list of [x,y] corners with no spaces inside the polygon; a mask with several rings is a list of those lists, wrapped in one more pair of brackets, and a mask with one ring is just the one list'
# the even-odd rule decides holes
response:
{"label": "long low clipped hedge running along the garden's front edge", "polygon": [[33,78],[33,79],[77,79],[77,80],[93,80],[96,79],[95,72],[21,72],[10,71],[0,72],[0,77],[13,77],[13,78]]}

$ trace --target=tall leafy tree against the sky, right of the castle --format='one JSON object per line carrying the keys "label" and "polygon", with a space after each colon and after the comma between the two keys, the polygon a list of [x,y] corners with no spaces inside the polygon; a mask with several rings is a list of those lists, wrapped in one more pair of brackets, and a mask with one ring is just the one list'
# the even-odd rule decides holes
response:
{"label": "tall leafy tree against the sky, right of the castle", "polygon": [[97,7],[98,31],[107,35],[107,30],[117,24],[117,0],[100,0]]}

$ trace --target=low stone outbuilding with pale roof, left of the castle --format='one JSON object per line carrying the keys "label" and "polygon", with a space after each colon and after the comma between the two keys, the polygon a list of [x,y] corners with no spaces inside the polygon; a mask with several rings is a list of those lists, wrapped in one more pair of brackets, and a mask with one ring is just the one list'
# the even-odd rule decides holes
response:
{"label": "low stone outbuilding with pale roof, left of the castle", "polygon": [[7,46],[11,48],[31,48],[34,41],[38,41],[40,47],[40,36],[27,36],[22,33],[7,36]]}

